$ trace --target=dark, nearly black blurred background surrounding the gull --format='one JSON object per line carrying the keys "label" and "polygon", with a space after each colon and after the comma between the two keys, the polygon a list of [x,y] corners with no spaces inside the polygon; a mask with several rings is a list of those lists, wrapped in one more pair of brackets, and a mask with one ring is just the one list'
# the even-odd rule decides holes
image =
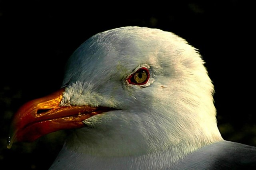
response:
{"label": "dark, nearly black blurred background surrounding the gull", "polygon": [[138,3],[0,0],[1,169],[50,166],[66,132],[7,149],[12,115],[26,101],[59,89],[66,60],[82,42],[122,26],[174,32],[200,49],[215,85],[222,136],[256,146],[252,5],[238,0]]}

